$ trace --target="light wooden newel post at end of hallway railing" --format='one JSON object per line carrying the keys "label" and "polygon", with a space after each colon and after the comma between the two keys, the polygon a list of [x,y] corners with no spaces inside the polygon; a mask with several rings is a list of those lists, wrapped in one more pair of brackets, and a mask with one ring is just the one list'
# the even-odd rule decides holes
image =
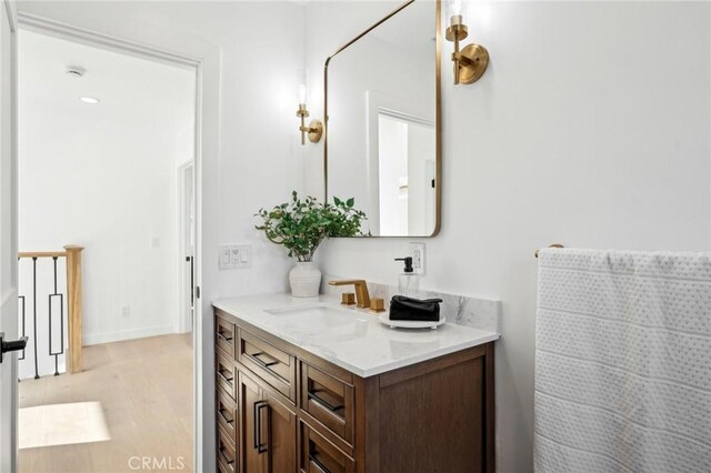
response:
{"label": "light wooden newel post at end of hallway railing", "polygon": [[67,251],[67,306],[69,309],[69,365],[70,373],[81,371],[81,251],[83,246],[68,244]]}

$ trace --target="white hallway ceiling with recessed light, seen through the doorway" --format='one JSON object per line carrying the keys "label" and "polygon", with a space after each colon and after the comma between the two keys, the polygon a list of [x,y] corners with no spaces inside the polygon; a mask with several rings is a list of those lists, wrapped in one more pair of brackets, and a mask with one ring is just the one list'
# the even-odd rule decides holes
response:
{"label": "white hallway ceiling with recessed light, seen through the doorway", "polygon": [[[194,71],[20,30],[19,111],[90,117],[114,125],[184,130],[194,115]],[[86,70],[67,74],[69,66]],[[80,97],[101,102],[87,104]],[[159,127],[160,125],[160,127]]]}

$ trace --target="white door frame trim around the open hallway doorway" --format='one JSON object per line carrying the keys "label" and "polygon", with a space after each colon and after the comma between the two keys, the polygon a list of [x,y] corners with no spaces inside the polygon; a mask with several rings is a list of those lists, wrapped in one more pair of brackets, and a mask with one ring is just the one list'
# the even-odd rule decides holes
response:
{"label": "white door frame trim around the open hallway doorway", "polygon": [[[11,0],[3,0],[6,6]],[[119,37],[100,33],[97,31],[74,27],[59,21],[50,20],[43,17],[17,12],[16,31],[27,30],[41,34],[78,42],[94,48],[100,48],[122,54],[133,56],[148,59],[156,62],[177,66],[196,72],[196,107],[194,107],[194,140],[193,140],[193,192],[194,192],[194,283],[193,288],[202,285],[202,162],[204,142],[203,129],[203,83],[204,83],[204,58],[183,54],[180,52],[168,51],[156,48],[150,44],[143,44],[136,41],[126,40]],[[17,34],[16,34],[17,38]],[[16,68],[17,70],[17,68]],[[16,78],[17,81],[17,78]],[[13,101],[17,109],[17,87],[16,98]],[[17,144],[14,145],[17,148]],[[17,222],[16,225],[17,228]],[[196,289],[194,318],[192,324],[192,451],[193,451],[193,471],[202,471],[204,465],[204,404],[202,392],[203,379],[203,323],[202,323],[202,298],[200,291]],[[16,413],[17,414],[17,413]],[[17,450],[16,450],[17,453]],[[209,456],[208,456],[209,457]]]}

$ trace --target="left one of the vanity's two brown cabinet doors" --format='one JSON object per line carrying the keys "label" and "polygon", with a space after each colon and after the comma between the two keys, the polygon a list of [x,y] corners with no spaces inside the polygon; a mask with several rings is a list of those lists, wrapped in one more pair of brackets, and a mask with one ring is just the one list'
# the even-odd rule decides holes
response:
{"label": "left one of the vanity's two brown cabinet doors", "polygon": [[[262,390],[249,375],[239,372],[238,419],[241,473],[262,473],[266,470],[266,449],[262,437],[267,415],[267,403],[262,400]],[[262,422],[259,422],[262,420]]]}

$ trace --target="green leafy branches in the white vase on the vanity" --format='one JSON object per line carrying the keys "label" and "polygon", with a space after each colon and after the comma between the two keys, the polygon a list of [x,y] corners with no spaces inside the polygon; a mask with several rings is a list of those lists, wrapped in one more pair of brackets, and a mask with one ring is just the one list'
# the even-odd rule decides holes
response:
{"label": "green leafy branches in the white vase on the vanity", "polygon": [[360,224],[365,213],[357,210],[354,199],[333,198],[333,203],[320,203],[312,197],[299,199],[297,191],[291,201],[271,210],[260,209],[254,217],[262,223],[254,225],[269,241],[283,244],[289,256],[311,261],[321,242],[329,236],[356,236],[362,234]]}

